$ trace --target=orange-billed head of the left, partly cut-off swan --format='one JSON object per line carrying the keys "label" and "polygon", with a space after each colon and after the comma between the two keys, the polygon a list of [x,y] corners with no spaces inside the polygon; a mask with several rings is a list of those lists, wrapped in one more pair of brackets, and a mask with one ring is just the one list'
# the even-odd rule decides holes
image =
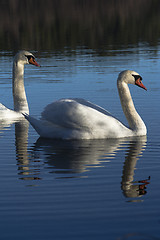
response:
{"label": "orange-billed head of the left, partly cut-off swan", "polygon": [[37,67],[40,67],[40,65],[35,60],[35,56],[32,53],[25,50],[22,50],[15,55],[14,62],[19,62],[23,65],[33,64]]}

